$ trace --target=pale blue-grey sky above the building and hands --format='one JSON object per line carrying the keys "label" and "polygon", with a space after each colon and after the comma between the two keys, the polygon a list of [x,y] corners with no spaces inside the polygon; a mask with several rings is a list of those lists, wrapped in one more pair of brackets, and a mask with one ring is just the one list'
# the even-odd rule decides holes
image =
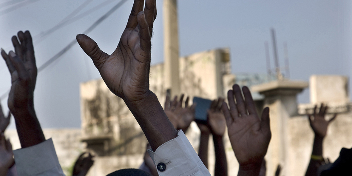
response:
{"label": "pale blue-grey sky above the building and hands", "polygon": [[[53,32],[34,46],[39,67],[119,1],[0,0],[0,46],[7,52],[13,50],[11,37],[19,30],[29,30],[34,41],[38,41],[38,34],[51,29],[86,3],[77,15],[86,13],[87,16]],[[11,2],[17,4],[9,5]],[[96,7],[102,2],[107,5]],[[163,62],[162,3],[157,0],[152,64]],[[88,34],[108,54],[118,44],[132,4],[133,0],[127,0]],[[180,56],[229,47],[232,73],[266,73],[264,42],[269,42],[272,58],[270,27],[274,27],[281,66],[284,64],[283,42],[288,44],[291,79],[308,81],[312,74],[351,76],[351,8],[352,2],[348,0],[179,0]],[[11,86],[4,61],[0,62],[0,75],[2,95]],[[80,127],[79,83],[96,78],[100,78],[99,72],[78,44],[40,72],[34,105],[42,127]],[[308,89],[298,100],[309,102]],[[1,105],[6,113],[7,98],[1,100]],[[10,127],[14,128],[13,120]]]}

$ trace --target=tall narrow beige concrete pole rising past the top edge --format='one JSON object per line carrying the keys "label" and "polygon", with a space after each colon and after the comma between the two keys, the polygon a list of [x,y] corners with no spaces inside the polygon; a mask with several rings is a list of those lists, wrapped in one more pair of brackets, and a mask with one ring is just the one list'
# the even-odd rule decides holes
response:
{"label": "tall narrow beige concrete pole rising past the top edge", "polygon": [[178,74],[178,25],[177,0],[164,0],[164,75],[165,88],[171,89],[171,95],[180,94]]}

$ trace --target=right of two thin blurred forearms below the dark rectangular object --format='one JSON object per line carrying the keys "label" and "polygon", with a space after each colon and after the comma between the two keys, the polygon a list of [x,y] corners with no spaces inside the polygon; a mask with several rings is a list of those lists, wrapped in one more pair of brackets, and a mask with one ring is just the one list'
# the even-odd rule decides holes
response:
{"label": "right of two thin blurred forearms below the dark rectangular object", "polygon": [[227,160],[222,136],[213,134],[215,149],[215,176],[227,176]]}

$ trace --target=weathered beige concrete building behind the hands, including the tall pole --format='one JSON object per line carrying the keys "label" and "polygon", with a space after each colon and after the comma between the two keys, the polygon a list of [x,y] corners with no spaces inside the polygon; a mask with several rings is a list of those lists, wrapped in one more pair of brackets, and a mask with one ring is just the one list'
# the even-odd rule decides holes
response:
{"label": "weathered beige concrete building behind the hands, including the tall pole", "polygon": [[[231,74],[230,49],[218,48],[179,57],[176,0],[164,0],[164,63],[151,67],[150,89],[164,104],[166,91],[171,95],[185,94],[216,99],[226,98],[227,90],[237,83],[249,86],[259,114],[270,107],[272,139],[265,159],[267,175],[274,175],[281,164],[281,175],[304,175],[312,151],[313,131],[307,113],[315,105],[327,103],[328,115],[339,113],[328,128],[323,144],[324,157],[334,161],[341,147],[350,148],[352,139],[352,111],[348,93],[348,77],[340,75],[312,75],[310,81],[293,81],[283,76],[279,65],[276,74]],[[273,43],[275,38],[273,38]],[[274,51],[274,58],[275,58]],[[286,75],[287,76],[287,75]],[[297,94],[309,87],[310,103],[299,104]],[[61,166],[70,175],[72,166],[83,151],[96,157],[89,176],[105,176],[124,168],[138,168],[143,162],[147,140],[137,121],[122,99],[110,92],[105,83],[92,80],[80,84],[80,129],[44,129],[52,138]],[[227,132],[226,132],[227,133]],[[199,149],[200,131],[192,122],[186,136],[194,149]],[[15,130],[7,130],[14,149],[20,148]],[[230,176],[237,175],[238,163],[225,134],[225,149]],[[209,141],[209,171],[214,172],[214,147]]]}

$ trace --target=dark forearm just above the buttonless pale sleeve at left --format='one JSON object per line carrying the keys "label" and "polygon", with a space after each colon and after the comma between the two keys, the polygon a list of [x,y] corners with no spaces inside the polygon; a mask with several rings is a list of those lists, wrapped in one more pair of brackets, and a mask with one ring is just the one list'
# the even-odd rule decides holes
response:
{"label": "dark forearm just above the buttonless pale sleeve at left", "polygon": [[34,107],[12,112],[21,147],[30,147],[45,141]]}

